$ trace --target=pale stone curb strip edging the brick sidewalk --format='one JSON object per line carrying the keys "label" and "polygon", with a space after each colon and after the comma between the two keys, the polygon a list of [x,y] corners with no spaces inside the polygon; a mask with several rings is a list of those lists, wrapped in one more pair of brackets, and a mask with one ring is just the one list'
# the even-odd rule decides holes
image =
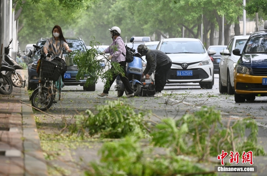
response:
{"label": "pale stone curb strip edging the brick sidewalk", "polygon": [[[24,78],[24,72],[20,73]],[[30,105],[27,88],[22,87],[20,90],[21,101]],[[32,108],[24,104],[22,104],[22,123],[25,176],[48,176]]]}

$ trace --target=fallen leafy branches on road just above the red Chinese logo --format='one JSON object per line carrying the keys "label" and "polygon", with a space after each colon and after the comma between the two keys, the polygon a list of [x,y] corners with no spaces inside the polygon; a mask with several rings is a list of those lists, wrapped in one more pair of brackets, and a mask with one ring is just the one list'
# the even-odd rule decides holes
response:
{"label": "fallen leafy branches on road just above the red Chinese logo", "polygon": [[[258,126],[253,119],[237,119],[231,125],[222,123],[220,111],[203,107],[194,114],[186,114],[180,120],[164,119],[156,125],[152,142],[156,146],[171,147],[176,154],[196,155],[199,160],[209,155],[217,156],[225,151],[253,151],[265,155],[262,146],[257,145]],[[250,134],[246,138],[245,130]]]}

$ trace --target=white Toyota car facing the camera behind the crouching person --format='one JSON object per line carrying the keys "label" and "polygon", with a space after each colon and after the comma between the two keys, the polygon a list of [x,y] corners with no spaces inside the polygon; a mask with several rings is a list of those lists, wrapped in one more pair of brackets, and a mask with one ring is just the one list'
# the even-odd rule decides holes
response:
{"label": "white Toyota car facing the camera behind the crouching person", "polygon": [[166,38],[160,40],[158,50],[172,60],[167,83],[199,83],[201,88],[211,89],[214,84],[213,63],[210,59],[216,51],[206,51],[199,39]]}

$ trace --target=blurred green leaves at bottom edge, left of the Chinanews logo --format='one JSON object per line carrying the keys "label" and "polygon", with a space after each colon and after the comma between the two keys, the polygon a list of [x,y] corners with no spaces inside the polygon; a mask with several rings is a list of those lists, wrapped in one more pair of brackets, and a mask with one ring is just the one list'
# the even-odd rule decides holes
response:
{"label": "blurred green leaves at bottom edge, left of the Chinanews logo", "polygon": [[[121,141],[105,142],[99,150],[100,163],[90,163],[86,176],[152,176],[152,175],[216,175],[202,169],[186,157],[167,154],[153,155],[152,150],[142,150],[134,137]],[[195,173],[195,174],[194,174]],[[202,173],[202,174],[197,174]]]}

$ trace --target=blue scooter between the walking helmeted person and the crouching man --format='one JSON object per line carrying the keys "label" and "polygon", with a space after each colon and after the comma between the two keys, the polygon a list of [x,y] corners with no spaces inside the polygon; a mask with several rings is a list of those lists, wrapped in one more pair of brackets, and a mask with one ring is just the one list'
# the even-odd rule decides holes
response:
{"label": "blue scooter between the walking helmeted person and the crouching man", "polygon": [[[134,38],[130,39],[130,42],[134,45]],[[134,96],[138,96],[142,89],[142,58],[139,53],[135,53],[135,49],[127,47],[133,54],[134,60],[126,65],[126,76],[130,81],[131,87],[134,90]],[[131,79],[131,80],[130,80]],[[123,96],[124,92],[128,95],[125,86],[123,85],[119,76],[116,78],[115,90],[117,91],[118,97]]]}

